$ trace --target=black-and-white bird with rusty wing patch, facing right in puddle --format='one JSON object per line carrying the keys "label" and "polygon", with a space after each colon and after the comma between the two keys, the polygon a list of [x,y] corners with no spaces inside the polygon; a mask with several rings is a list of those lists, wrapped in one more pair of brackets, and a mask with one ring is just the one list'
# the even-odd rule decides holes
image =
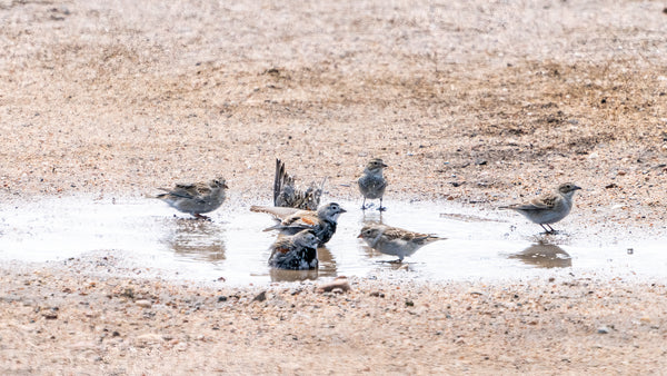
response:
{"label": "black-and-white bird with rusty wing patch, facing right in puddle", "polygon": [[278,230],[280,234],[295,235],[303,229],[312,229],[319,239],[319,245],[331,239],[338,226],[338,217],[347,212],[336,202],[322,205],[317,211],[267,206],[251,206],[250,211],[270,214],[279,221],[265,231]]}

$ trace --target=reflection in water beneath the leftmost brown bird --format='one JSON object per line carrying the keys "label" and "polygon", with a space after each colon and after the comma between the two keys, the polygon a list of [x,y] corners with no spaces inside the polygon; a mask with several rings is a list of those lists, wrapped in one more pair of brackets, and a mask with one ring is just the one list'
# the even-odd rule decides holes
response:
{"label": "reflection in water beneath the leftmost brown bird", "polygon": [[225,260],[223,229],[219,224],[177,219],[175,226],[166,243],[176,255],[211,263]]}

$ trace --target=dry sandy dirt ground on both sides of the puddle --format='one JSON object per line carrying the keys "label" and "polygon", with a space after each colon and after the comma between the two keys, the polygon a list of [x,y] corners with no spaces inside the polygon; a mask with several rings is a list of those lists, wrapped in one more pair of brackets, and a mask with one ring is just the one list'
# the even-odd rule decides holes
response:
{"label": "dry sandy dirt ground on both sides of the puddle", "polygon": [[[327,195],[381,157],[390,200],[492,209],[584,187],[578,220],[664,231],[661,1],[0,0],[0,199],[145,196],[275,158]],[[1,215],[1,214],[0,214]],[[10,220],[10,219],[6,219]],[[623,234],[623,232],[620,232]],[[112,258],[2,266],[12,374],[647,374],[663,283],[193,286]],[[405,284],[405,285],[404,285]],[[381,297],[384,296],[384,297]],[[225,297],[222,299],[221,297]]]}

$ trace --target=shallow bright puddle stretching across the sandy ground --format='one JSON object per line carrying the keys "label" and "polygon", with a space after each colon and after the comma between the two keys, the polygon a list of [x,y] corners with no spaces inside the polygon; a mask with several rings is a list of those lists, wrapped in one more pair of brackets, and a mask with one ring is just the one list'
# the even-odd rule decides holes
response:
{"label": "shallow bright puddle stretching across the sandy ground", "polygon": [[[475,212],[437,202],[389,202],[380,214],[359,202],[320,248],[318,270],[277,270],[267,265],[272,220],[249,206],[220,209],[212,221],[188,219],[159,200],[46,198],[0,206],[0,260],[63,260],[106,253],[165,277],[246,285],[346,276],[429,280],[520,278],[547,273],[665,278],[666,239],[596,238],[588,232],[545,236],[539,227],[494,211]],[[404,264],[357,239],[366,222],[447,237]],[[568,228],[567,219],[559,228]],[[629,250],[631,249],[631,251]]]}

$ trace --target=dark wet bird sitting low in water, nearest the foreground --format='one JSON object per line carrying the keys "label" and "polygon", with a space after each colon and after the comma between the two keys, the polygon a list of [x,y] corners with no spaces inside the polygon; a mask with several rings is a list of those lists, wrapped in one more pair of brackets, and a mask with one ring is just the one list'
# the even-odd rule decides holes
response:
{"label": "dark wet bird sitting low in water, nearest the foreground", "polygon": [[317,269],[317,245],[319,239],[311,229],[291,236],[281,235],[271,245],[269,266],[280,269]]}

